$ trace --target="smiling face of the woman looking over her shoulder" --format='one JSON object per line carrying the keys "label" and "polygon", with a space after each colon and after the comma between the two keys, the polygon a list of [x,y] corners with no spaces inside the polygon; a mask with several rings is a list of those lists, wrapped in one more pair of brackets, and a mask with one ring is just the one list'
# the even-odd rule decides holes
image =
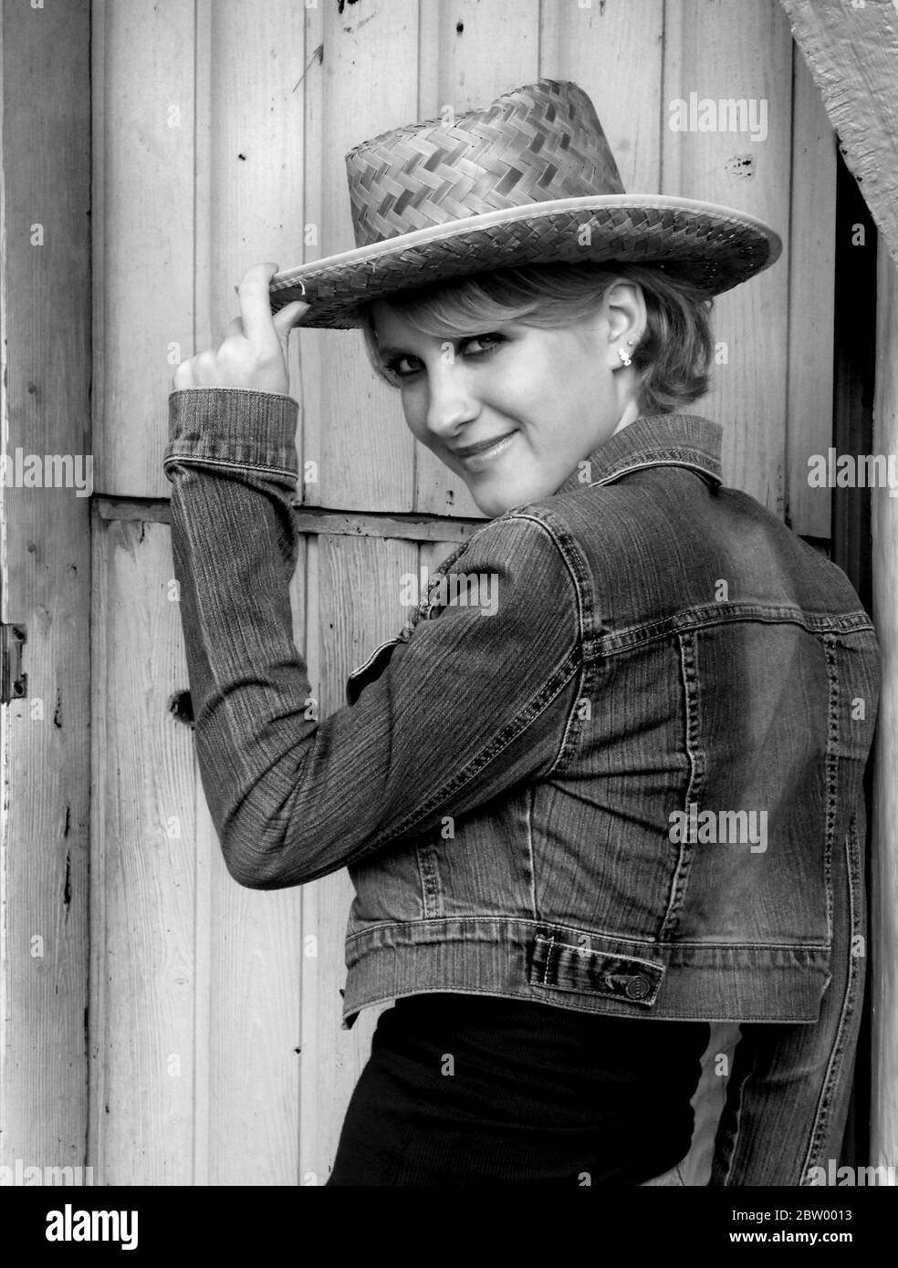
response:
{"label": "smiling face of the woman looking over her shoulder", "polygon": [[[457,340],[425,335],[373,304],[382,360],[413,435],[462,477],[485,515],[548,497],[589,453],[638,416],[634,373],[618,351],[638,341],[637,287],[573,326],[498,325]],[[641,326],[642,313],[642,326]]]}

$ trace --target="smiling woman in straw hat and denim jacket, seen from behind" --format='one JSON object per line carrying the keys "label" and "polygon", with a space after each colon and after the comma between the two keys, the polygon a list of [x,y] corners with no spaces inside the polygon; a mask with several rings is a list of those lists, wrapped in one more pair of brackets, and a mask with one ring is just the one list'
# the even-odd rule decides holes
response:
{"label": "smiling woman in straw hat and denim jacket, seen from behind", "polygon": [[[175,374],[165,455],[228,869],[348,866],[345,1025],[396,1000],[329,1183],[682,1183],[715,1019],[742,1040],[712,1183],[808,1182],[856,1042],[876,644],[685,412],[713,295],[779,240],[624,195],[571,84],[348,164],[359,247],[247,273],[222,346]],[[363,326],[488,516],[321,721],[288,596],[297,321]]]}

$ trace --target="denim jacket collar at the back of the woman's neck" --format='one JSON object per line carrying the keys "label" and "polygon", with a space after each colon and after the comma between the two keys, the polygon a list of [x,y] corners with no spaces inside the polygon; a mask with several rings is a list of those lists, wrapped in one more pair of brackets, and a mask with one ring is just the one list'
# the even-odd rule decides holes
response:
{"label": "denim jacket collar at the back of the woman's neck", "polygon": [[709,484],[722,484],[722,437],[720,424],[699,415],[641,415],[587,454],[556,492],[610,484],[646,467],[689,467]]}

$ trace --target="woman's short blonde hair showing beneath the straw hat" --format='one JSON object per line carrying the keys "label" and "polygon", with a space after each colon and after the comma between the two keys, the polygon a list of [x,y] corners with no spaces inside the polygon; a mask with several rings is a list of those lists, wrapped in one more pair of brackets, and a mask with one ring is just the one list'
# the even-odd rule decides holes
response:
{"label": "woman's short blonde hair showing beneath the straw hat", "polygon": [[[396,292],[386,302],[426,335],[460,339],[510,321],[543,328],[573,325],[591,317],[610,283],[620,278],[638,283],[646,301],[646,330],[630,353],[641,412],[672,413],[705,396],[714,301],[660,268],[586,260],[534,264]],[[359,309],[359,317],[374,372],[397,387],[378,353],[370,304]]]}

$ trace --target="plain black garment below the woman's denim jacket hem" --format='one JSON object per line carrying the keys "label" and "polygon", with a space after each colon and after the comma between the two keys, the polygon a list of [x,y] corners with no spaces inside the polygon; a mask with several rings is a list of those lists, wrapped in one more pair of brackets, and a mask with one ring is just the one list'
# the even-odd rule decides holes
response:
{"label": "plain black garment below the woman's denim jacket hem", "polygon": [[493,995],[378,1018],[327,1184],[642,1184],[687,1153],[706,1022]]}

